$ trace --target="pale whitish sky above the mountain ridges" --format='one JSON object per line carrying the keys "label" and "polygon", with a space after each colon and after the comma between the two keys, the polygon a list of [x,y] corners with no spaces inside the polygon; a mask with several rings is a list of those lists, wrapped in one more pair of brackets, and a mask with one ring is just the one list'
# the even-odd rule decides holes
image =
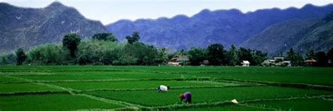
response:
{"label": "pale whitish sky above the mountain ridges", "polygon": [[100,20],[104,25],[121,19],[192,16],[206,8],[211,11],[237,8],[247,13],[262,8],[301,8],[305,4],[325,6],[333,3],[333,0],[0,0],[29,8],[44,8],[53,1],[77,8],[86,18]]}

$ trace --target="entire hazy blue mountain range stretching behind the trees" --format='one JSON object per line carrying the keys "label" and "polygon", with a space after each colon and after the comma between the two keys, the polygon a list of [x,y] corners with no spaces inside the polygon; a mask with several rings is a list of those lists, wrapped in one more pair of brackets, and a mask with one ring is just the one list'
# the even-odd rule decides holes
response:
{"label": "entire hazy blue mountain range stretching behind the trees", "polygon": [[142,42],[159,48],[189,49],[209,44],[231,44],[254,48],[270,55],[289,48],[327,50],[332,43],[332,22],[322,20],[333,11],[333,4],[302,8],[270,8],[242,13],[237,9],[204,9],[188,17],[119,20],[103,26],[84,18],[75,8],[53,2],[45,8],[19,8],[0,3],[0,51],[25,49],[48,42],[59,42],[64,34],[76,32],[91,37],[112,32],[119,41],[140,32]]}

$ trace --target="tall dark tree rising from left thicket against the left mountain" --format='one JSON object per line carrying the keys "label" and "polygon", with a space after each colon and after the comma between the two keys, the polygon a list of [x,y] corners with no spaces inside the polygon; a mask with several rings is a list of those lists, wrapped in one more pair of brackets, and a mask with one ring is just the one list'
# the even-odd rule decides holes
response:
{"label": "tall dark tree rising from left thicket against the left mountain", "polygon": [[63,39],[63,47],[70,50],[70,56],[75,58],[75,52],[77,51],[77,46],[81,43],[81,39],[78,34],[66,34]]}

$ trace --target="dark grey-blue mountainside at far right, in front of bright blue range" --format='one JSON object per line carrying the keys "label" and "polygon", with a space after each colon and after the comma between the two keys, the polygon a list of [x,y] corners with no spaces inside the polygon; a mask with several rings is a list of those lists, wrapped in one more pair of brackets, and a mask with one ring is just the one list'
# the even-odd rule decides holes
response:
{"label": "dark grey-blue mountainside at far right, in front of bright blue range", "polygon": [[242,44],[270,55],[294,48],[300,53],[333,48],[333,12],[325,18],[297,19],[270,25]]}

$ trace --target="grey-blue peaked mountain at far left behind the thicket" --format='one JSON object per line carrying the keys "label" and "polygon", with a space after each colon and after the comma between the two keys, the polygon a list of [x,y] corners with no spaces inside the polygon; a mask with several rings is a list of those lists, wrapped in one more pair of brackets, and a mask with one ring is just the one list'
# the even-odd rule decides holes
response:
{"label": "grey-blue peaked mountain at far left behind the thicket", "polygon": [[53,2],[45,8],[20,8],[0,3],[0,51],[59,42],[67,33],[91,37],[108,32],[99,22],[84,18],[75,8]]}

